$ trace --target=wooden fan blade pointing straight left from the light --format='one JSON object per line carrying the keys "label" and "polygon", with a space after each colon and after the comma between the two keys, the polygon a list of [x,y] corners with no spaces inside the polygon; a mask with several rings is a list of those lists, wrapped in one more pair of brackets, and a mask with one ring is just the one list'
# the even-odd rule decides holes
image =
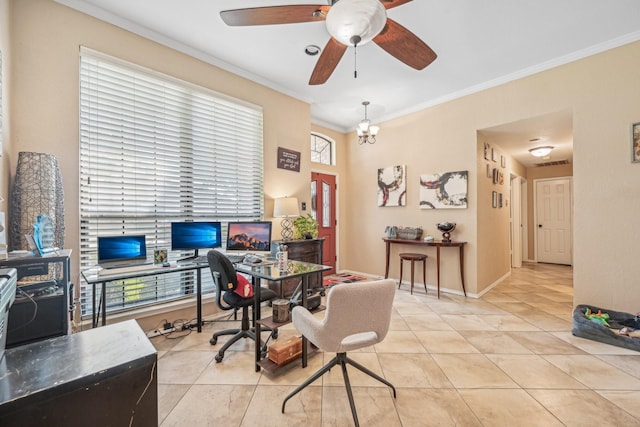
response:
{"label": "wooden fan blade pointing straight left from the light", "polygon": [[324,21],[329,9],[331,6],[313,4],[252,7],[223,10],[220,17],[231,26],[296,24]]}

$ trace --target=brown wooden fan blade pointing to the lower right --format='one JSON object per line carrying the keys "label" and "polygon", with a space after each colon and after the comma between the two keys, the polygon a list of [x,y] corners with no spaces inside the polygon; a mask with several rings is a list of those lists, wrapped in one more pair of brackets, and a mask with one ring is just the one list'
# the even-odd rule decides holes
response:
{"label": "brown wooden fan blade pointing to the lower right", "polygon": [[429,46],[415,34],[397,22],[387,18],[387,24],[373,41],[394,56],[416,70],[422,70],[437,57]]}

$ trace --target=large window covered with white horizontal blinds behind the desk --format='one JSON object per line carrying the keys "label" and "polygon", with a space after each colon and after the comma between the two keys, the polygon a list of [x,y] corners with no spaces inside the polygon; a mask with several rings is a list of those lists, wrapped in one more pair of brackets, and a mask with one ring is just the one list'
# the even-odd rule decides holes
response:
{"label": "large window covered with white horizontal blinds behind the desk", "polygon": [[[262,110],[89,49],[80,55],[80,263],[97,236],[144,234],[169,249],[172,221],[262,218]],[[179,258],[169,253],[170,260]],[[213,289],[209,274],[203,288]],[[183,298],[195,273],[112,282],[107,311]],[[98,290],[99,291],[99,290]],[[92,289],[81,286],[82,316]]]}

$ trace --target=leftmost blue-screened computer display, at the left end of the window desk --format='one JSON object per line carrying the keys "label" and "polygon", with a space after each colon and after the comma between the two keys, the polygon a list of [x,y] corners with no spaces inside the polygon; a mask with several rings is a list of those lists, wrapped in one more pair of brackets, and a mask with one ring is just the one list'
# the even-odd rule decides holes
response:
{"label": "leftmost blue-screened computer display, at the left end of the window desk", "polygon": [[117,268],[145,264],[147,243],[144,234],[133,236],[98,236],[98,264]]}

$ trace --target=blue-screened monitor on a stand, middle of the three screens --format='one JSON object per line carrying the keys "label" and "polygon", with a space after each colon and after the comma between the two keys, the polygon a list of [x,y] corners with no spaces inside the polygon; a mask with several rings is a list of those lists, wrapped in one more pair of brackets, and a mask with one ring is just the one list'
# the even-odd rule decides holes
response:
{"label": "blue-screened monitor on a stand, middle of the three screens", "polygon": [[222,225],[217,221],[171,223],[171,250],[195,251],[222,247]]}

